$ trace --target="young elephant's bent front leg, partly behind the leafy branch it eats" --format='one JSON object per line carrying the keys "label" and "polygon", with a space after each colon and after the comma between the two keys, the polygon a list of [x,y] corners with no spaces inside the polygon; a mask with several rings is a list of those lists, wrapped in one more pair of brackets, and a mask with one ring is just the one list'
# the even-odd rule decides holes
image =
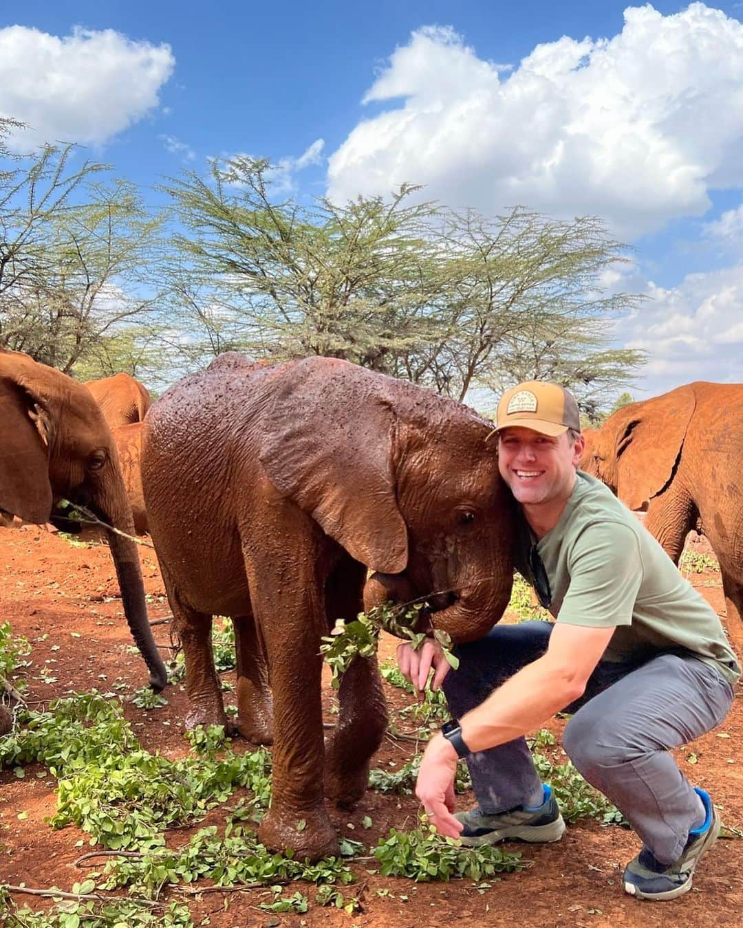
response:
{"label": "young elephant's bent front leg, partly behind the leafy branch it eats", "polygon": [[[352,619],[362,608],[366,568],[345,558],[325,587],[328,622]],[[325,745],[325,795],[353,806],[369,784],[369,763],[387,727],[387,709],[376,657],[357,657],[338,690],[338,723]]]}

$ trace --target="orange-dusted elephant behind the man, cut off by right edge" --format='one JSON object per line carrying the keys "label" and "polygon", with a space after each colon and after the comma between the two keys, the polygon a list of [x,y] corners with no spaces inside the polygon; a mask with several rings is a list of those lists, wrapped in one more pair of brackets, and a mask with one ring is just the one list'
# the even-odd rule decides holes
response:
{"label": "orange-dusted elephant behind the man, cut off by right edge", "polygon": [[586,441],[604,481],[678,563],[701,523],[723,576],[728,631],[743,641],[743,384],[697,380],[622,406]]}

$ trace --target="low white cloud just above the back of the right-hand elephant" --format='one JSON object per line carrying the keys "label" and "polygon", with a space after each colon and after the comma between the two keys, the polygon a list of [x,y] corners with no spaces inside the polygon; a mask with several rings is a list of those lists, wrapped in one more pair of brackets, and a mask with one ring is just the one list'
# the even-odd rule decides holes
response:
{"label": "low white cloud just above the back of the right-hand elephant", "polygon": [[650,298],[619,322],[616,334],[628,348],[643,348],[647,395],[691,380],[739,382],[743,354],[743,264],[689,274],[670,289],[652,281]]}

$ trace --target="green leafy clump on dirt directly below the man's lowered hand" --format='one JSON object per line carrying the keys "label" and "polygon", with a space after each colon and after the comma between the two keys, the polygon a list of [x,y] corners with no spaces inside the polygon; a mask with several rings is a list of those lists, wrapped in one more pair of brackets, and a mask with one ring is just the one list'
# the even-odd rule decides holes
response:
{"label": "green leafy clump on dirt directly below the man's lowered hand", "polygon": [[443,838],[433,825],[412,831],[392,828],[373,849],[382,876],[401,876],[416,883],[449,881],[452,877],[482,880],[496,873],[524,870],[530,861],[518,853],[506,853],[492,845],[463,847]]}

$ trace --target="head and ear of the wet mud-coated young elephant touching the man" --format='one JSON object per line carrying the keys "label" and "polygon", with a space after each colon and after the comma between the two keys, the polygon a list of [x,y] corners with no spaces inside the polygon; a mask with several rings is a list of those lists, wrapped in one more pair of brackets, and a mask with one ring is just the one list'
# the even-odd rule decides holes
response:
{"label": "head and ear of the wet mud-coated young elephant touching the man", "polygon": [[284,369],[265,421],[269,479],[375,572],[378,599],[438,594],[431,624],[457,641],[498,621],[511,591],[513,500],[488,422],[327,358]]}

